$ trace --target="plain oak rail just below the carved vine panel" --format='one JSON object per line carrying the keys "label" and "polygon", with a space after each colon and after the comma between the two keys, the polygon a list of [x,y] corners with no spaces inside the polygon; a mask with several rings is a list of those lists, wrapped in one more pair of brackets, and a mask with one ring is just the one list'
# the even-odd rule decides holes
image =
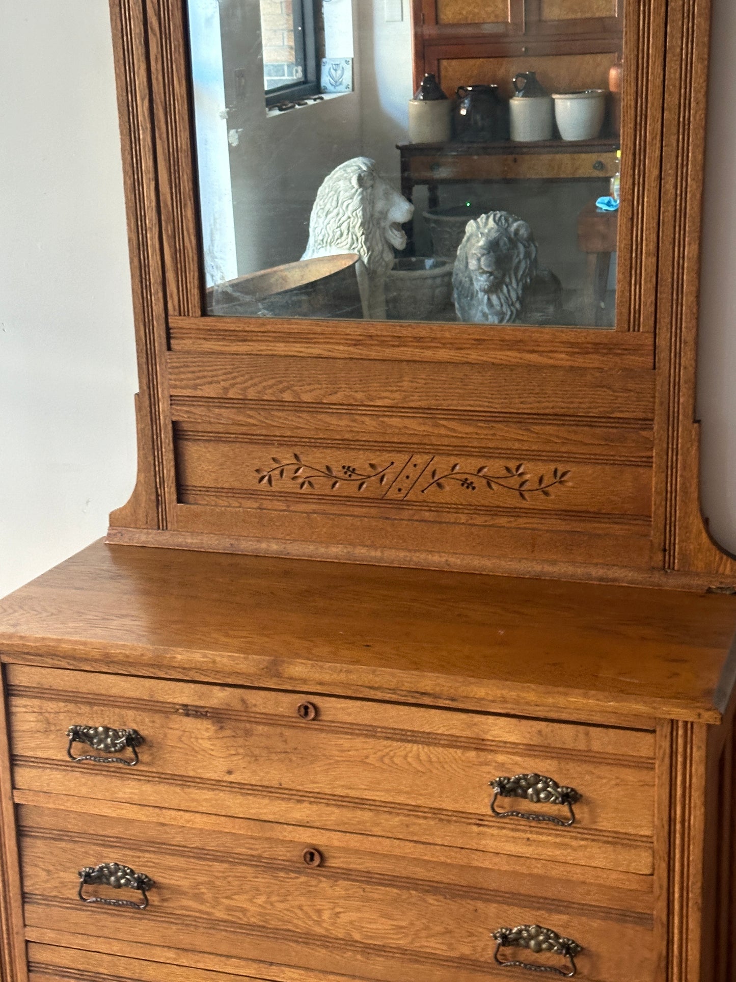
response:
{"label": "plain oak rail just below the carved vine panel", "polygon": [[[345,502],[297,500],[234,508],[217,496],[207,505],[179,505],[173,510],[165,541],[137,537],[139,544],[161,544],[207,551],[243,552],[304,559],[347,560],[391,566],[491,573],[511,570],[524,557],[528,570],[572,573],[581,564],[601,579],[620,580],[623,570],[651,566],[650,523],[611,522],[592,518],[541,523],[529,516],[477,515],[465,512],[440,520],[436,512],[417,513],[410,506],[350,507]],[[111,541],[126,541],[125,533]]]}

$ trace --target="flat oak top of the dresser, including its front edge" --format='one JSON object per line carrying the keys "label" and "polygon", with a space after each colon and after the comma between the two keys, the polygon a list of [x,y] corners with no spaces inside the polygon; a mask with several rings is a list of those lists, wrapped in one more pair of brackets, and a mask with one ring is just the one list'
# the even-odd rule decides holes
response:
{"label": "flat oak top of the dresser, including its front edge", "polygon": [[736,597],[97,542],[0,601],[6,661],[716,722]]}

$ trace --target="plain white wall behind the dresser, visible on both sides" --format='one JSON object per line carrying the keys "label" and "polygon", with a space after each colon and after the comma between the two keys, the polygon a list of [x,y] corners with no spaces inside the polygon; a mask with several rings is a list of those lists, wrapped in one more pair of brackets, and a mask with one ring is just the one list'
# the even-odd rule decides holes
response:
{"label": "plain white wall behind the dresser, visible on both sides", "polygon": [[[706,511],[736,550],[736,5],[714,16],[700,409]],[[107,5],[0,19],[2,595],[127,500],[136,383]]]}

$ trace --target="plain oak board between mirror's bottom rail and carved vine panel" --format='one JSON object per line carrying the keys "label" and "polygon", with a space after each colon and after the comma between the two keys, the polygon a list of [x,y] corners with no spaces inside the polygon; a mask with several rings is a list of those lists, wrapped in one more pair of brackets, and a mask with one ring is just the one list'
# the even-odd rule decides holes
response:
{"label": "plain oak board between mirror's bottom rail and carved vine panel", "polygon": [[648,419],[654,373],[616,367],[441,364],[360,358],[171,353],[173,397],[256,400],[326,408],[542,412]]}

